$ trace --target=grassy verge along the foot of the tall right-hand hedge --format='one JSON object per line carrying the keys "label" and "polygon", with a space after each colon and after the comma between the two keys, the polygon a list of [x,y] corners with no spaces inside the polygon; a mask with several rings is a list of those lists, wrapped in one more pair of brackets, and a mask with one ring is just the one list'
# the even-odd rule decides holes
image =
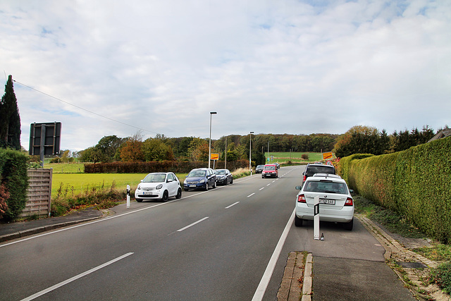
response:
{"label": "grassy verge along the foot of the tall right-hand hedge", "polygon": [[[406,238],[426,238],[412,223],[404,216],[400,216],[390,209],[385,209],[373,204],[368,199],[354,195],[355,212],[364,214],[369,219],[377,221],[388,231],[397,233]],[[437,269],[432,269],[429,276],[430,283],[437,283],[446,293],[451,293],[451,245],[433,242],[431,247],[418,247],[412,250],[435,262],[441,262]]]}

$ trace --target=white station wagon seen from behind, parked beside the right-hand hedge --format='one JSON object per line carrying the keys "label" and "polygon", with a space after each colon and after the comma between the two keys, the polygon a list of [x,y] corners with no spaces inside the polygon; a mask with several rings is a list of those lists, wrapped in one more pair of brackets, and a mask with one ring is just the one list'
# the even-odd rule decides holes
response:
{"label": "white station wagon seen from behind, parked beside the right-hand hedge", "polygon": [[296,189],[300,191],[296,197],[295,226],[314,219],[314,198],[318,196],[319,220],[343,223],[345,229],[352,230],[354,200],[345,180],[333,175],[312,176]]}

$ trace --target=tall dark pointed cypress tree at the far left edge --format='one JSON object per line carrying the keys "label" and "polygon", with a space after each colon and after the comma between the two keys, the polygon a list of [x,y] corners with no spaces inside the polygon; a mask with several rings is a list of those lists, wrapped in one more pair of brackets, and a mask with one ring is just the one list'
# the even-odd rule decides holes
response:
{"label": "tall dark pointed cypress tree at the far left edge", "polygon": [[8,76],[0,102],[0,147],[20,149],[20,115],[12,75]]}

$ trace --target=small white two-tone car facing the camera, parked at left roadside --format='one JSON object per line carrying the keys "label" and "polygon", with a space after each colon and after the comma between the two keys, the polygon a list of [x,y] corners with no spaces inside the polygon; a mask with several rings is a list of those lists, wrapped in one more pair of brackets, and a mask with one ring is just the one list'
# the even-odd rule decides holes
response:
{"label": "small white two-tone car facing the camera, parked at left roadside", "polygon": [[174,173],[149,173],[135,190],[136,202],[144,199],[161,199],[166,202],[169,197],[182,197],[182,188]]}

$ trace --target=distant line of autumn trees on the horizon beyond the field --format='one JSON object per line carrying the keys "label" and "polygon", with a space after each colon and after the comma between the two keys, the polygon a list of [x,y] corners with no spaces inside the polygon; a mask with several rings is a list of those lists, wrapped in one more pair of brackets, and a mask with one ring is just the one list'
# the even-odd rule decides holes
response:
{"label": "distant line of autumn trees on the horizon beyond the field", "polygon": [[[211,140],[211,152],[218,153],[221,161],[249,159],[249,143],[252,161],[264,164],[268,152],[330,152],[338,135],[228,135]],[[81,161],[208,161],[209,139],[201,137],[165,137],[142,139],[140,133],[132,137],[110,135],[102,137],[94,147],[80,151]]]}

